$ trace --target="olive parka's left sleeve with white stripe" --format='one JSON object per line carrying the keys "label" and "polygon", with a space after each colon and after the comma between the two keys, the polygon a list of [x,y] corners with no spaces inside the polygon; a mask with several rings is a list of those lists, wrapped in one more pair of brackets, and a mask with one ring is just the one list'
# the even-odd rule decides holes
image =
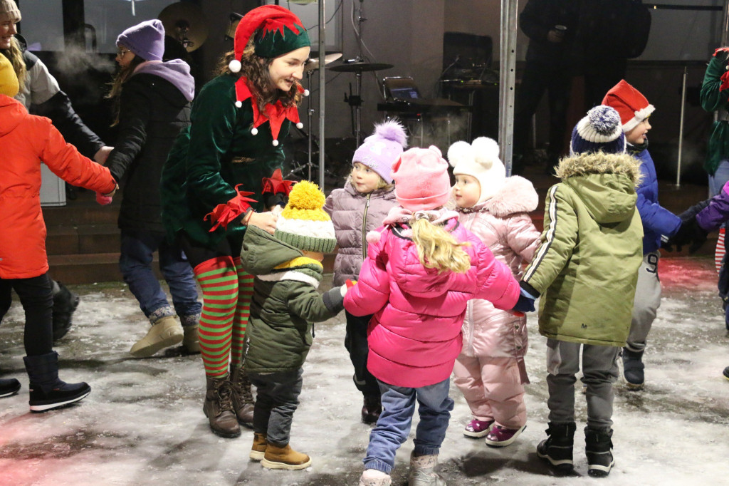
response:
{"label": "olive parka's left sleeve with white stripe", "polygon": [[569,190],[562,184],[553,185],[547,192],[541,244],[522,278],[540,294],[564,269],[577,244],[577,213],[570,199]]}

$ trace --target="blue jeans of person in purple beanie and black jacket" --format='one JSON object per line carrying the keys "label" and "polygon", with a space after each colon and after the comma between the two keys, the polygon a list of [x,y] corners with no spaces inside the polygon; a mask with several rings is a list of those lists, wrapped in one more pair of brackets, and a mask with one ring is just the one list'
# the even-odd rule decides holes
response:
{"label": "blue jeans of person in purple beanie and black jacket", "polygon": [[[154,324],[161,317],[173,315],[165,291],[152,271],[154,252],[160,255],[160,271],[170,288],[174,312],[181,318],[199,315],[198,287],[192,267],[179,244],[169,244],[163,233],[122,230],[122,249],[119,268],[124,282],[139,301],[139,308]],[[184,322],[190,324],[190,322]]]}

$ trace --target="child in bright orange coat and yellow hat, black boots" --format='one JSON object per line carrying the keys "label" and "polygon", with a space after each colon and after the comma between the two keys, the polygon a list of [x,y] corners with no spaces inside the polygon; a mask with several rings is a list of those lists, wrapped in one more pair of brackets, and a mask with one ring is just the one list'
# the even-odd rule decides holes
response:
{"label": "child in bright orange coat and yellow hat, black boots", "polygon": [[[23,361],[28,372],[31,412],[77,402],[91,392],[84,382],[58,378],[52,348],[51,281],[41,210],[41,164],[66,182],[112,196],[117,188],[109,169],[67,144],[49,119],[28,115],[12,99],[18,90],[12,64],[0,54],[0,320],[15,290],[26,313]],[[0,397],[20,390],[17,379],[0,379]]]}

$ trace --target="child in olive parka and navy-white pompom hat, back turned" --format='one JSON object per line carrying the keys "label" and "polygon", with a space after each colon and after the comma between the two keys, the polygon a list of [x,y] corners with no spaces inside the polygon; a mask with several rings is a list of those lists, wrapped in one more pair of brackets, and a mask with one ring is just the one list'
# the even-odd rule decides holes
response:
{"label": "child in olive parka and navy-white pompom hat, back turned", "polygon": [[547,338],[548,439],[537,456],[571,471],[577,428],[575,375],[582,360],[587,399],[588,474],[605,477],[612,458],[612,385],[628,339],[642,262],[636,209],[639,161],[625,154],[620,115],[599,105],[574,127],[561,182],[547,191],[544,231],[522,290],[539,299],[539,333]]}

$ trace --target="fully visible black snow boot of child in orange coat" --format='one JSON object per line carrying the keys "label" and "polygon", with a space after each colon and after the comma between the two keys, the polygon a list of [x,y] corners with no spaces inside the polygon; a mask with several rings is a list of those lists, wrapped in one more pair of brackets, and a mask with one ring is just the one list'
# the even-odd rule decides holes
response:
{"label": "fully visible black snow boot of child in orange coat", "polygon": [[91,393],[85,382],[66,383],[58,379],[58,353],[25,356],[26,371],[30,384],[31,412],[47,412],[73,404]]}

